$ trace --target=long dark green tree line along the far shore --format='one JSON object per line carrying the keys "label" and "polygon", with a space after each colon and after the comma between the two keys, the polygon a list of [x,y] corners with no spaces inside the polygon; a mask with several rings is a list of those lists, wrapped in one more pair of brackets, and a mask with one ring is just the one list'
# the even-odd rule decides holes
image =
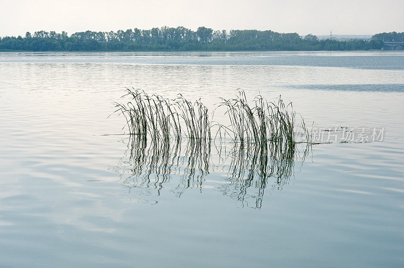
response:
{"label": "long dark green tree line along the far shore", "polygon": [[2,51],[318,51],[381,49],[383,40],[402,38],[404,33],[379,33],[370,40],[322,39],[308,34],[271,30],[216,30],[179,27],[117,32],[36,31],[22,36],[0,37]]}

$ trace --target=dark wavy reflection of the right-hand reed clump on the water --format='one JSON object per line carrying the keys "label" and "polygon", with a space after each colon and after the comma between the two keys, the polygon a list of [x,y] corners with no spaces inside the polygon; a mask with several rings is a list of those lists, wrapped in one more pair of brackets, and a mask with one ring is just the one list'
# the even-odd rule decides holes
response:
{"label": "dark wavy reflection of the right-hand reed clump on the water", "polygon": [[308,146],[276,147],[267,143],[264,150],[257,146],[233,146],[222,163],[227,171],[217,189],[240,201],[241,206],[261,208],[265,190],[282,190],[294,175],[295,163],[303,163]]}

